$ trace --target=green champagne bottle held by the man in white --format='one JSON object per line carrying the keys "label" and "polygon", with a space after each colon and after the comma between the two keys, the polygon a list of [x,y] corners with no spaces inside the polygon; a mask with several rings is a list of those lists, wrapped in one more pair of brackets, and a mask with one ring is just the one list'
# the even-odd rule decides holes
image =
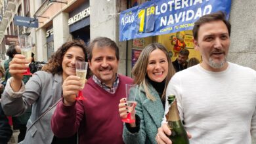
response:
{"label": "green champagne bottle held by the man in white", "polygon": [[177,107],[177,100],[175,96],[168,96],[169,111],[165,115],[168,127],[171,130],[169,139],[173,144],[189,144],[188,135],[182,124],[181,118],[179,117],[179,111]]}

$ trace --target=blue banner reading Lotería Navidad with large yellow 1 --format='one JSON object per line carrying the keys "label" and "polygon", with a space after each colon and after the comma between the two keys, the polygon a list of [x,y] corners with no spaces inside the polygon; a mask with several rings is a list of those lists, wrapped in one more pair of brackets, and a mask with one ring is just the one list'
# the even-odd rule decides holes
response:
{"label": "blue banner reading Loter\u00eda Navidad with large yellow 1", "polygon": [[193,29],[194,22],[219,10],[229,18],[231,0],[153,0],[124,10],[119,41]]}

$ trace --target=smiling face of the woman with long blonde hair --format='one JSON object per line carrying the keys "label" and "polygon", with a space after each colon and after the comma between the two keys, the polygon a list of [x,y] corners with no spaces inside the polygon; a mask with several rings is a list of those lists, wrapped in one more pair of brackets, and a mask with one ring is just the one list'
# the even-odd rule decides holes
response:
{"label": "smiling face of the woman with long blonde hair", "polygon": [[148,58],[147,75],[154,82],[162,82],[168,73],[168,61],[160,49],[153,50]]}

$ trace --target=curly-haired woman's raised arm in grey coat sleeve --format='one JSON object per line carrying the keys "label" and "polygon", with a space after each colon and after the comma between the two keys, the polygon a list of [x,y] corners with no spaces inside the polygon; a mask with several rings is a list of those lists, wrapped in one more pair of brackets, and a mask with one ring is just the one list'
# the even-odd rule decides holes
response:
{"label": "curly-haired woman's raised arm in grey coat sleeve", "polygon": [[26,63],[28,62],[20,54],[16,54],[10,62],[9,69],[12,77],[8,79],[2,94],[3,111],[6,115],[22,115],[37,100],[41,92],[41,81],[38,75],[33,75],[26,86],[22,82],[22,73],[26,72]]}

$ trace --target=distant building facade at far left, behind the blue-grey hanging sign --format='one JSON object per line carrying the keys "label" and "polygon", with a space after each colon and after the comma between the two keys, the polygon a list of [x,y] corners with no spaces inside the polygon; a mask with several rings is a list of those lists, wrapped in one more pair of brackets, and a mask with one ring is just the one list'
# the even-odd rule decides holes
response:
{"label": "distant building facade at far left, behind the blue-grey hanging sign", "polygon": [[17,43],[18,35],[30,35],[31,28],[15,25],[15,16],[30,17],[30,0],[1,0],[0,2],[0,54],[6,59],[9,45]]}

